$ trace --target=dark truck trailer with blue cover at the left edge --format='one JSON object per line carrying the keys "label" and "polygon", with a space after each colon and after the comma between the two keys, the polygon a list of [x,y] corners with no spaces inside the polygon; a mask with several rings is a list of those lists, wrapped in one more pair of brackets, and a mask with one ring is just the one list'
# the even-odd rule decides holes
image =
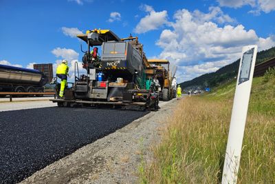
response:
{"label": "dark truck trailer with blue cover at the left edge", "polygon": [[47,81],[38,70],[0,65],[0,92],[44,92]]}

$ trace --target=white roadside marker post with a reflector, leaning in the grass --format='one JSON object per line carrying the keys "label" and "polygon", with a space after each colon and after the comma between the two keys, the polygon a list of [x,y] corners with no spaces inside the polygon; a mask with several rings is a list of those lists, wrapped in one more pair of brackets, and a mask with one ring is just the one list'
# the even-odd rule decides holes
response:
{"label": "white roadside marker post with a reflector, leaning in the grass", "polygon": [[237,180],[256,54],[256,45],[243,47],[223,165],[223,184],[236,183]]}

